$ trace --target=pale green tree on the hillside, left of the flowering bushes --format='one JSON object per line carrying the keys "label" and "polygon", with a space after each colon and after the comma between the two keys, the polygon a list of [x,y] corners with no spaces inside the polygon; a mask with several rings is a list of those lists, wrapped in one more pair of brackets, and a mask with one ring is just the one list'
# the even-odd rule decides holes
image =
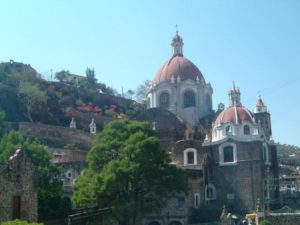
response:
{"label": "pale green tree on the hillside, left of the flowering bushes", "polygon": [[26,105],[27,117],[33,122],[33,111],[40,105],[47,103],[48,97],[46,92],[42,91],[37,84],[31,84],[29,82],[22,82],[19,87],[19,92]]}

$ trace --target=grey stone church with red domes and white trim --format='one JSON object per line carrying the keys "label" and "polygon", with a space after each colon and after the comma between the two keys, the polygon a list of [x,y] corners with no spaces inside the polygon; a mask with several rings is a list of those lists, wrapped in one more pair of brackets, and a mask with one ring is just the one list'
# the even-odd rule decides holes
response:
{"label": "grey stone church with red domes and white trim", "polygon": [[279,201],[278,162],[271,117],[261,97],[254,110],[233,84],[229,104],[213,110],[213,87],[183,55],[176,32],[173,54],[158,70],[147,96],[149,121],[172,163],[186,171],[189,194],[169,201],[145,225],[185,225],[197,209],[247,213]]}

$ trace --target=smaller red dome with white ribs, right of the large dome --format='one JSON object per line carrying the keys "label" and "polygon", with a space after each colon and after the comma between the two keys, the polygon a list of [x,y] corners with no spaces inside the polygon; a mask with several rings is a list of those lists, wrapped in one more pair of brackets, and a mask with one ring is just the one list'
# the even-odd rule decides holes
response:
{"label": "smaller red dome with white ribs, right of the large dome", "polygon": [[215,124],[238,123],[243,122],[253,123],[252,113],[242,106],[231,106],[222,111],[215,120]]}

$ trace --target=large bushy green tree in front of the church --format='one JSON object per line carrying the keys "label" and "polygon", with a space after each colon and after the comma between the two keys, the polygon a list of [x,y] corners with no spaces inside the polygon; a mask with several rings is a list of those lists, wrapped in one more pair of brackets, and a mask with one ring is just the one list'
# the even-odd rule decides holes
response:
{"label": "large bushy green tree in front of the church", "polygon": [[168,199],[187,190],[183,171],[170,164],[149,123],[111,122],[97,136],[88,163],[75,184],[75,203],[112,207],[120,225],[159,212]]}

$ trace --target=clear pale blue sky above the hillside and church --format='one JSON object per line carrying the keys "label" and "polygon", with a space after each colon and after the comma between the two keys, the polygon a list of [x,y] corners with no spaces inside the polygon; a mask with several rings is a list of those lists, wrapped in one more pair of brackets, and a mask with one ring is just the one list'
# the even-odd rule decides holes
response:
{"label": "clear pale blue sky above the hillside and church", "polygon": [[154,78],[178,25],[215,109],[228,106],[235,81],[245,107],[262,96],[273,139],[300,146],[298,0],[2,0],[0,9],[0,62],[30,64],[47,79],[90,67],[119,92]]}

